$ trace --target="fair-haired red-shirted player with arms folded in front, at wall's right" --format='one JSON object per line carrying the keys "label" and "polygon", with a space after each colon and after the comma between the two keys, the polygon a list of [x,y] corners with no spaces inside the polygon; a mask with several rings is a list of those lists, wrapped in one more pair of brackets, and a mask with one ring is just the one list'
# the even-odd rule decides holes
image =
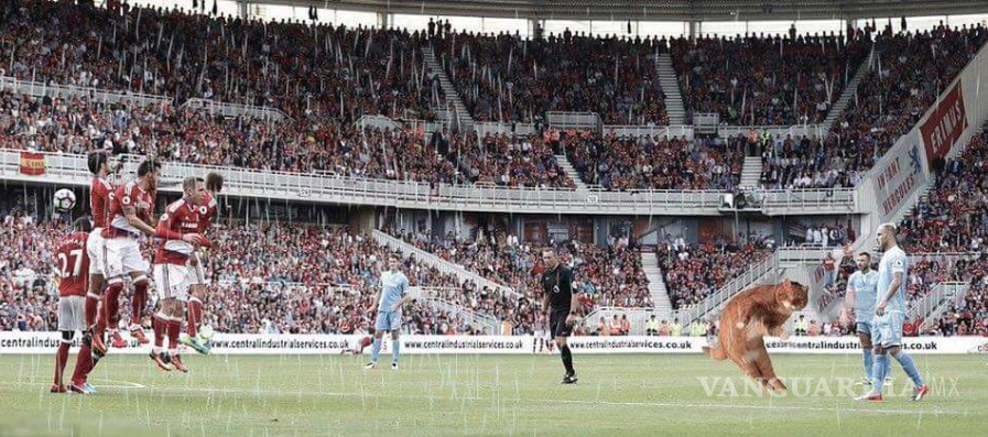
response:
{"label": "fair-haired red-shirted player with arms folded in front, at wall's right", "polygon": [[[208,247],[209,241],[198,233],[199,207],[206,195],[202,178],[188,177],[182,183],[184,197],[173,201],[158,221],[161,243],[154,254],[154,284],[158,287],[159,310],[152,321],[154,348],[151,360],[162,370],[172,367],[188,372],[178,357],[178,335],[182,331],[183,312],[188,302],[188,260],[197,247]],[[164,351],[164,338],[169,350]]]}

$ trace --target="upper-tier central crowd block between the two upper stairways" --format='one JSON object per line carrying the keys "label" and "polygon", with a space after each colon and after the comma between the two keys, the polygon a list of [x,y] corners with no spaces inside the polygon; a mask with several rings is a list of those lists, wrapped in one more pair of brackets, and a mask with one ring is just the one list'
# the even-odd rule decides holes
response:
{"label": "upper-tier central crowd block between the two upper stairways", "polygon": [[547,111],[596,112],[607,124],[669,124],[655,55],[665,41],[447,34],[446,74],[478,121],[538,122]]}

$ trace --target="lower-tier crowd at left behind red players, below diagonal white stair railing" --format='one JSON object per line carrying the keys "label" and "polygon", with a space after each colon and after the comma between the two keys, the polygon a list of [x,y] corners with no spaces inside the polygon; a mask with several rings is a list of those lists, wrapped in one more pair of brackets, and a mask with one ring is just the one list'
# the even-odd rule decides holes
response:
{"label": "lower-tier crowd at left behind red players, below diagonal white stair railing", "polygon": [[[64,221],[36,221],[8,214],[0,244],[0,329],[53,330],[57,326],[57,278],[53,252],[69,232]],[[357,332],[373,326],[369,310],[389,250],[345,228],[230,222],[215,230],[205,256],[209,285],[205,320],[222,332]],[[151,245],[145,245],[151,256]],[[470,284],[405,259],[402,271],[423,296],[467,305]],[[460,291],[460,292],[457,292]],[[121,306],[129,319],[129,305]],[[482,308],[477,308],[482,309]],[[415,334],[473,334],[455,315],[413,303],[404,329]],[[488,332],[492,334],[492,332]]]}

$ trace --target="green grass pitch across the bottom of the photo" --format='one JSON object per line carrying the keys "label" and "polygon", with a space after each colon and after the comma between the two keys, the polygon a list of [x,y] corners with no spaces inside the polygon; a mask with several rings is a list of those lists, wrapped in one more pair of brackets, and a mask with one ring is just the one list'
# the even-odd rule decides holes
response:
{"label": "green grass pitch across the bottom of the photo", "polygon": [[[2,356],[0,436],[986,435],[985,359],[913,357],[943,380],[941,394],[876,405],[792,393],[717,397],[729,393],[723,380],[709,397],[699,376],[734,378],[739,394],[745,380],[732,364],[694,354],[576,356],[576,386],[558,384],[555,356],[408,356],[399,371],[365,371],[357,357],[188,357],[188,374],[116,356],[100,363],[100,393],[88,397],[47,393],[51,356]],[[775,369],[814,378],[814,389],[819,378],[861,372],[859,354],[777,356]],[[895,392],[911,385],[898,363],[892,374]]]}

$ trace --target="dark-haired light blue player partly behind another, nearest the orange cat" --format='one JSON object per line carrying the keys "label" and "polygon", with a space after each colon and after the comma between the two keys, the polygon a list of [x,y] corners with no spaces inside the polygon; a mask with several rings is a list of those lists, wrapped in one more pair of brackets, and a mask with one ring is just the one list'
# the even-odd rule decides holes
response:
{"label": "dark-haired light blue player partly behind another, nearest the orange cat", "polygon": [[840,321],[844,326],[855,320],[855,331],[861,340],[861,354],[864,354],[865,379],[861,384],[871,385],[871,368],[875,362],[871,354],[871,328],[875,317],[876,288],[878,287],[878,272],[871,270],[871,254],[861,252],[855,258],[858,271],[847,280],[847,295],[844,299],[844,308],[840,310]]}

